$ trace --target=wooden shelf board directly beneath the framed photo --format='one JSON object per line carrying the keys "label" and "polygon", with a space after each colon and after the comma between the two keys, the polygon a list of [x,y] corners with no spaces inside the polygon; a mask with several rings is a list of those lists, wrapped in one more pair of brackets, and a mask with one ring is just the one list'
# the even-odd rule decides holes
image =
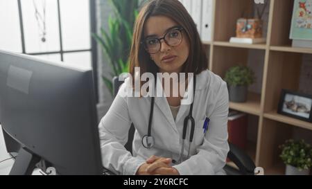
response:
{"label": "wooden shelf board directly beneath the framed photo", "polygon": [[271,119],[271,120],[276,120],[276,121],[279,121],[281,123],[294,125],[296,127],[302,127],[304,129],[312,130],[312,123],[308,123],[308,122],[305,122],[303,120],[297,120],[295,118],[291,118],[288,116],[277,114],[277,111],[270,111],[268,113],[265,113],[265,114],[263,114],[263,117]]}

